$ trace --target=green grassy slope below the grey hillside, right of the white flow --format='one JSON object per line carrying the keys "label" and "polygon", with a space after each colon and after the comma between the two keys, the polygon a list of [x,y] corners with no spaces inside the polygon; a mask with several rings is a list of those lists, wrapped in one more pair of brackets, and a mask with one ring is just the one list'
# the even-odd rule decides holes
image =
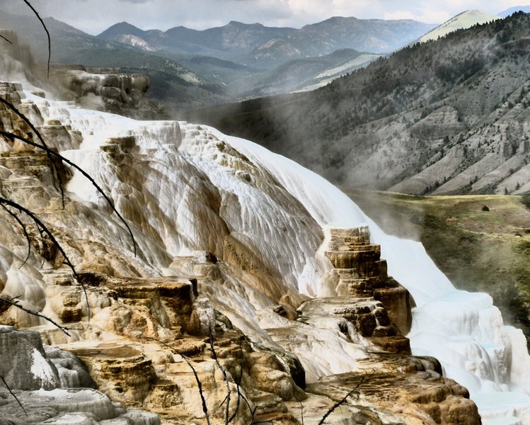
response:
{"label": "green grassy slope below the grey hillside, right of the white flow", "polygon": [[530,336],[530,197],[342,190],[386,232],[422,242],[457,288],[492,295]]}

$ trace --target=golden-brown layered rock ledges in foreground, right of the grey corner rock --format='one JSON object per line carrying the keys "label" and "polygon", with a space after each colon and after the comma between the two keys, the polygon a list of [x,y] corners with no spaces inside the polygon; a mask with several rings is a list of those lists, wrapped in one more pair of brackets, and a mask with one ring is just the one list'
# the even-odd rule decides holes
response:
{"label": "golden-brown layered rock ledges in foreground, right of the grey corner rock", "polygon": [[[159,413],[164,424],[181,424],[177,418],[204,419],[204,396],[212,423],[224,423],[228,412],[234,423],[248,424],[267,410],[265,399],[277,399],[277,407],[282,400],[305,398],[284,361],[254,351],[229,319],[197,298],[197,280],[80,276],[90,322],[81,287],[49,275],[57,284],[47,286],[46,312],[78,330],[65,338],[47,329],[43,338],[79,356],[112,399]],[[228,388],[226,410],[221,407]]]}

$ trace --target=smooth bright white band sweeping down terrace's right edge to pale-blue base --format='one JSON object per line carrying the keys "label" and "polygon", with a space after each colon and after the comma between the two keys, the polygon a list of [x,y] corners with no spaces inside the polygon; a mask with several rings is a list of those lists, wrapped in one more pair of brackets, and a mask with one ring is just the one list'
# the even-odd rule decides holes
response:
{"label": "smooth bright white band sweeping down terrace's right edge to pale-blue base", "polygon": [[[217,130],[210,130],[220,137]],[[417,303],[408,335],[413,353],[437,357],[450,378],[468,387],[483,423],[495,419],[495,423],[510,424],[517,417],[521,424],[530,424],[526,340],[522,332],[503,325],[489,295],[456,290],[422,244],[384,234],[350,198],[320,176],[246,140],[225,138],[253,162],[272,171],[322,226],[367,223],[373,242],[381,244],[388,273]],[[499,393],[502,395],[496,398]],[[517,399],[517,409],[512,402],[505,403],[508,399]],[[490,414],[492,411],[495,414]]]}

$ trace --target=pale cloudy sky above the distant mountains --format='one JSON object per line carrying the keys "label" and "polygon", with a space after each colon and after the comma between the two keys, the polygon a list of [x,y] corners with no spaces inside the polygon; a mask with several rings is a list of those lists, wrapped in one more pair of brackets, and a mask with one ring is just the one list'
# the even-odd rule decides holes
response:
{"label": "pale cloudy sky above the distant mountains", "polygon": [[[330,16],[411,18],[442,23],[468,9],[494,15],[528,0],[31,0],[42,16],[98,34],[114,23],[127,21],[142,29],[166,30],[186,26],[198,30],[229,21],[301,28]],[[22,0],[0,0],[14,11]],[[6,8],[4,8],[6,7]]]}

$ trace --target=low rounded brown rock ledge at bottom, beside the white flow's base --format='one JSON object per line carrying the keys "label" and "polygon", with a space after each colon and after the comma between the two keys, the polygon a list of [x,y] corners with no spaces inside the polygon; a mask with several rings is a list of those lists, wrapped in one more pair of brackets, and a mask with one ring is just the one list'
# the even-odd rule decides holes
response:
{"label": "low rounded brown rock ledge at bottom, beside the white flow's base", "polygon": [[[371,368],[376,361],[375,368]],[[432,362],[434,361],[434,364]],[[308,390],[327,395],[353,414],[357,423],[480,424],[476,405],[466,388],[435,372],[435,359],[374,355],[359,362],[364,373],[345,373],[309,385]],[[396,373],[399,370],[400,373]],[[441,370],[439,370],[441,371]],[[384,422],[374,422],[367,404],[376,404]]]}

